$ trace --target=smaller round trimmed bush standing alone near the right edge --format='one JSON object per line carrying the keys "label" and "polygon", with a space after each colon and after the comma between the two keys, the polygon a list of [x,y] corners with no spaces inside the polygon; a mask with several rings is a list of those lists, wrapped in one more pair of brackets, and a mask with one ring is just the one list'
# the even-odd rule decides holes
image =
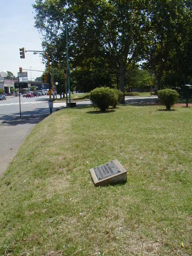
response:
{"label": "smaller round trimmed bush standing alone near the right edge", "polygon": [[177,102],[179,97],[178,92],[172,89],[159,90],[157,94],[158,99],[162,104],[166,106],[167,110],[171,109],[171,106],[173,106]]}

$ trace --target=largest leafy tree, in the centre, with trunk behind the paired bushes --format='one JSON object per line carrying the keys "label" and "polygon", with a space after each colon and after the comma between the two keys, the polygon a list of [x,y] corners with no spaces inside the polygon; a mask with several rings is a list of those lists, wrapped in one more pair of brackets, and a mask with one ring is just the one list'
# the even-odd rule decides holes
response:
{"label": "largest leafy tree, in the centre, with trunk behind the paired bushes", "polygon": [[116,73],[124,92],[125,71],[138,61],[144,40],[146,19],[142,0],[36,0],[36,27],[44,32],[43,46],[51,60],[65,57],[68,20],[71,64],[84,59],[103,58]]}

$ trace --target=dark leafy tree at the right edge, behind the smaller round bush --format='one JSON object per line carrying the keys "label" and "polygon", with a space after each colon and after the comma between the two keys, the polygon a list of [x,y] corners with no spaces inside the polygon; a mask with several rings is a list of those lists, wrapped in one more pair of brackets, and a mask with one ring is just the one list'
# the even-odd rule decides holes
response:
{"label": "dark leafy tree at the right edge, behind the smaller round bush", "polygon": [[[191,13],[185,0],[149,0],[146,12],[146,67],[156,76],[158,90],[184,81],[190,72]],[[182,78],[182,79],[181,79]]]}

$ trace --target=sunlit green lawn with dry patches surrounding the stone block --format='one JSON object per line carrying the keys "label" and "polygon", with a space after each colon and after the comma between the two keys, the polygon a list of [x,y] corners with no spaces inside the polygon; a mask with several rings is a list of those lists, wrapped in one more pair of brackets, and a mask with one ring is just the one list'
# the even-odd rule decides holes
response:
{"label": "sunlit green lawn with dry patches surrounding the stone block", "polygon": [[[0,255],[192,255],[192,108],[54,112],[0,180]],[[95,187],[117,158],[126,184]]]}

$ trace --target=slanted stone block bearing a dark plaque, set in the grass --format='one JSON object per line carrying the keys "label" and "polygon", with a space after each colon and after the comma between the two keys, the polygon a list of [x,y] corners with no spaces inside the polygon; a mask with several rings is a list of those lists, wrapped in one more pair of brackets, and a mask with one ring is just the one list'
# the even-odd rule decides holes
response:
{"label": "slanted stone block bearing a dark plaque, set in the grass", "polygon": [[127,171],[117,159],[91,168],[90,174],[95,186],[125,183],[127,180]]}

